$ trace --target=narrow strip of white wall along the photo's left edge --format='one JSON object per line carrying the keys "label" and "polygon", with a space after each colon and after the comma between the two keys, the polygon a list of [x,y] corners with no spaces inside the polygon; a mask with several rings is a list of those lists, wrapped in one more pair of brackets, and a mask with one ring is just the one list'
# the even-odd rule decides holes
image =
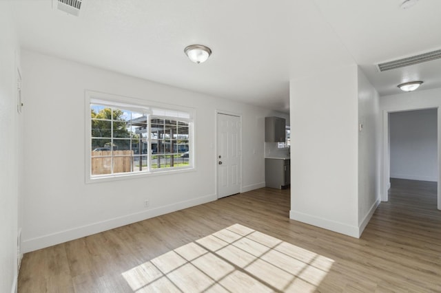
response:
{"label": "narrow strip of white wall along the photo's left edge", "polygon": [[[17,282],[17,34],[8,1],[0,1],[0,292],[14,292]],[[19,52],[17,52],[19,53]]]}

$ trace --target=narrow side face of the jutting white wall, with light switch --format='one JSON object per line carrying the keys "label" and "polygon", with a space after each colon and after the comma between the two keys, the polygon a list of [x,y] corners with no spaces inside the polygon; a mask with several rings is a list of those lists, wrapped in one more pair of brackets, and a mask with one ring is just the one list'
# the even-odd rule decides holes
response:
{"label": "narrow side face of the jutting white wall, with light switch", "polygon": [[358,226],[360,235],[380,204],[380,111],[379,96],[358,69]]}

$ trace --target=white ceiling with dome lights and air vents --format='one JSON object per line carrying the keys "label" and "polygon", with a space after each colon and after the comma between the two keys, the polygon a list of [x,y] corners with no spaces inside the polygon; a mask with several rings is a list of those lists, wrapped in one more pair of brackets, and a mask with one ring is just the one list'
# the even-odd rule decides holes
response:
{"label": "white ceiling with dome lights and air vents", "polygon": [[[80,17],[10,1],[25,49],[286,113],[290,79],[354,62],[380,95],[441,87],[441,60],[375,67],[441,49],[440,0],[83,0]],[[194,43],[212,49],[207,62],[187,59]]]}

